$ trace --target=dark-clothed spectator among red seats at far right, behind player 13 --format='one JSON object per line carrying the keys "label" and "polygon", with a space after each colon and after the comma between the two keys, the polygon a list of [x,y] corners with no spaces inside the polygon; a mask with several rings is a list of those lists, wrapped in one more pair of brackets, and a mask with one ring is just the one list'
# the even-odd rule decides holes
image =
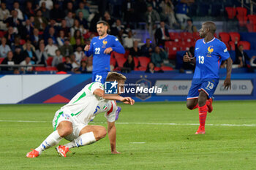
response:
{"label": "dark-clothed spectator among red seats at far right, behind player 13", "polygon": [[236,47],[236,61],[234,63],[238,64],[238,68],[248,67],[246,62],[249,63],[250,58],[247,55],[247,53],[244,51],[244,46],[243,45],[238,46],[237,37],[236,37],[235,47]]}

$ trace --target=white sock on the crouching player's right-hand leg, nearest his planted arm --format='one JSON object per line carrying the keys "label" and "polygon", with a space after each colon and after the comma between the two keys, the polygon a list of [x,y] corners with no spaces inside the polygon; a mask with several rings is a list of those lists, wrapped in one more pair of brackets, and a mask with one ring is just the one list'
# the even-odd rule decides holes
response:
{"label": "white sock on the crouching player's right-hand leg, nearest his planted arm", "polygon": [[85,146],[87,144],[92,144],[96,142],[96,139],[94,137],[94,133],[91,131],[86,134],[82,134],[79,136],[77,139],[74,139],[72,142],[69,142],[68,144],[64,144],[65,147],[80,147],[80,146]]}

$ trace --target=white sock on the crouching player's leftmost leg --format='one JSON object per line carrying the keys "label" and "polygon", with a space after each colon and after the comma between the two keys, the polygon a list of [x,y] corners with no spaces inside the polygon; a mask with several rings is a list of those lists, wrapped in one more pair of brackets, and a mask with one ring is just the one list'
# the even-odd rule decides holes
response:
{"label": "white sock on the crouching player's leftmost leg", "polygon": [[58,131],[53,131],[53,133],[51,133],[35,150],[41,154],[43,150],[47,150],[49,147],[53,147],[54,145],[59,144],[61,139],[62,138],[59,136]]}

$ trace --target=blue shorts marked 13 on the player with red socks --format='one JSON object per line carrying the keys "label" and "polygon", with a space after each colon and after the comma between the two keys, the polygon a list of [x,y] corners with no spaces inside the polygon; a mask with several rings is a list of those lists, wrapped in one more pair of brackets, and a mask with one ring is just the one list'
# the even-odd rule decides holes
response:
{"label": "blue shorts marked 13 on the player with red socks", "polygon": [[208,98],[211,98],[214,95],[218,84],[219,80],[217,79],[192,80],[192,85],[189,89],[187,99],[198,98],[200,90],[203,90],[207,94]]}

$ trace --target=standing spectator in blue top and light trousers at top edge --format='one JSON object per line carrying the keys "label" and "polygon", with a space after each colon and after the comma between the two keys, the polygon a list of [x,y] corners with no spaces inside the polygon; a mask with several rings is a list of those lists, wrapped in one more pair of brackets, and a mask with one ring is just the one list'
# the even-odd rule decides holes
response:
{"label": "standing spectator in blue top and light trousers at top edge", "polygon": [[187,16],[189,4],[193,3],[195,0],[178,0],[178,4],[176,5],[176,18],[178,22],[181,23],[181,29],[185,28],[185,23],[188,19]]}

